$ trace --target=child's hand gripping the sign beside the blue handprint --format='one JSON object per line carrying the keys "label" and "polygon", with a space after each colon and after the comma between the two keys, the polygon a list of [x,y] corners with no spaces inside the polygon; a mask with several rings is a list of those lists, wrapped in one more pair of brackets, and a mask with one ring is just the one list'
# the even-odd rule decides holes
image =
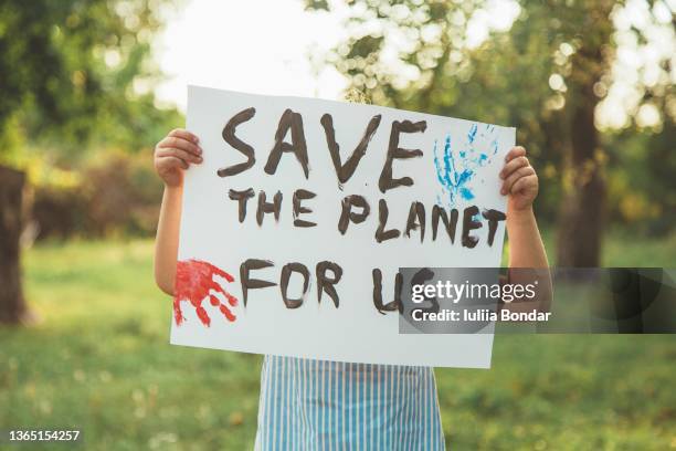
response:
{"label": "child's hand gripping the sign beside the blue handprint", "polygon": [[504,180],[500,193],[509,195],[507,211],[526,210],[532,206],[538,196],[538,175],[526,158],[524,147],[517,146],[507,153],[500,178]]}

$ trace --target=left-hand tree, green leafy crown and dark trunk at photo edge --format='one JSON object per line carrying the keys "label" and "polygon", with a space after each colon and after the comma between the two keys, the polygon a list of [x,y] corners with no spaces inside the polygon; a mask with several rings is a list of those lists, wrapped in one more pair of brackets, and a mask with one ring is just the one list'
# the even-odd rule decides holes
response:
{"label": "left-hand tree, green leafy crown and dark trunk at photo edge", "polygon": [[24,176],[11,168],[20,166],[21,143],[49,141],[74,158],[92,139],[137,139],[134,113],[158,114],[151,94],[134,93],[154,76],[146,66],[157,7],[0,1],[0,323],[19,323],[28,312],[19,261]]}

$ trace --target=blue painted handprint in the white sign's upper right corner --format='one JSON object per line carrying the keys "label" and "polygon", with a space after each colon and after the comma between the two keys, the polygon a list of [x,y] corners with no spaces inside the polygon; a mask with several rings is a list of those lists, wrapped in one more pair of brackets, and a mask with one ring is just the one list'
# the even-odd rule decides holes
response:
{"label": "blue painted handprint in the white sign's upper right corner", "polygon": [[[476,169],[488,165],[493,156],[497,154],[497,139],[494,135],[494,126],[486,125],[485,129],[479,133],[478,125],[473,124],[467,134],[467,141],[454,153],[451,134],[447,134],[441,160],[437,141],[434,141],[436,178],[442,185],[444,195],[447,196],[448,206],[456,203],[457,196],[461,196],[464,200],[474,199],[473,182]],[[441,196],[439,196],[437,201],[440,203],[441,200]]]}

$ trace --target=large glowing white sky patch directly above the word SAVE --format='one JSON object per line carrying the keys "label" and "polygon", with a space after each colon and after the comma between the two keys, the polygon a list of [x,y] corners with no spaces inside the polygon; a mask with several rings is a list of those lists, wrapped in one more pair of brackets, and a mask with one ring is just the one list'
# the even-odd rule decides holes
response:
{"label": "large glowing white sky patch directly above the word SAVE", "polygon": [[338,98],[335,70],[308,57],[345,38],[340,13],[304,11],[299,0],[186,1],[167,13],[155,49],[167,82],[156,94],[184,108],[186,85],[258,94]]}

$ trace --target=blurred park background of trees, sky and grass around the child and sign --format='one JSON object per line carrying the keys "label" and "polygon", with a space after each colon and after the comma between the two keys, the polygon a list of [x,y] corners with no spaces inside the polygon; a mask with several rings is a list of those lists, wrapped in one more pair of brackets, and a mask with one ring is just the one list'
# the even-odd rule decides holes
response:
{"label": "blurred park background of trees, sky and grass around the child and sign", "polygon": [[[170,347],[152,148],[187,83],[517,127],[552,264],[676,261],[673,0],[0,0],[0,429],[245,449],[260,356]],[[500,336],[455,449],[676,449],[669,336]]]}

